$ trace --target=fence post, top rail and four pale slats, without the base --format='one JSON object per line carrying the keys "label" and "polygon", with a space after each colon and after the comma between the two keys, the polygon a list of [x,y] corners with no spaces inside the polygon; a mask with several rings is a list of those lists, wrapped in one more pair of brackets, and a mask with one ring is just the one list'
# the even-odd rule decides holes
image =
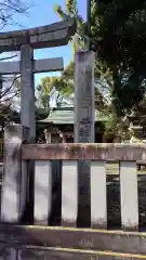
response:
{"label": "fence post, top rail and four pale slats, without the base", "polygon": [[[121,225],[138,229],[138,192],[136,161],[146,159],[143,144],[26,144],[21,126],[10,126],[4,136],[4,178],[1,220],[19,222],[26,202],[28,165],[35,162],[36,224],[48,223],[52,210],[52,160],[62,165],[62,225],[77,226],[78,164],[91,161],[91,226],[107,229],[106,161],[119,161]],[[31,168],[32,169],[32,168]],[[29,174],[31,174],[29,172]],[[84,216],[85,218],[85,216]]]}

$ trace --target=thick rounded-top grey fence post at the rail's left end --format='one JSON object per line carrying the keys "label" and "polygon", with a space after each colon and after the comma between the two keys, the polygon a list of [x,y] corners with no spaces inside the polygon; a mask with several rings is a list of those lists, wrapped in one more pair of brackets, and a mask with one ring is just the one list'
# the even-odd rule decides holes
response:
{"label": "thick rounded-top grey fence post at the rail's left end", "polygon": [[[1,221],[18,222],[26,202],[27,167],[22,164],[21,145],[27,140],[28,128],[18,125],[4,128]],[[22,167],[23,166],[23,167]]]}

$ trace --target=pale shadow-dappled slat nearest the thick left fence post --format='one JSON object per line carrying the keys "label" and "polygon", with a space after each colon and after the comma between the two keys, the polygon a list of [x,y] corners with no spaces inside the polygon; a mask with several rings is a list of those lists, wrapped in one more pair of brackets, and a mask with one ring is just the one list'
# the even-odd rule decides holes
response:
{"label": "pale shadow-dappled slat nearest the thick left fence post", "polygon": [[35,164],[35,223],[48,224],[52,207],[51,161],[37,160]]}

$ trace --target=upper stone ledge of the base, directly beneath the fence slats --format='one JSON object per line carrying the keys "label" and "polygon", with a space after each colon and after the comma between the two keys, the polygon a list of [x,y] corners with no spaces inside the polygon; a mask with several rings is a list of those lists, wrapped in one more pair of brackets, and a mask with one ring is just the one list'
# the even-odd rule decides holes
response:
{"label": "upper stone ledge of the base, directly beneath the fence slats", "polygon": [[72,250],[74,253],[84,252],[90,256],[95,253],[106,256],[108,253],[109,257],[112,253],[114,258],[109,259],[118,259],[119,255],[116,253],[121,253],[121,257],[124,258],[129,256],[129,259],[131,256],[133,259],[146,259],[146,233],[141,232],[1,224],[0,244],[4,244],[9,248],[27,246],[27,249],[32,249],[38,247],[43,250],[53,250],[53,252],[66,248],[66,252]]}

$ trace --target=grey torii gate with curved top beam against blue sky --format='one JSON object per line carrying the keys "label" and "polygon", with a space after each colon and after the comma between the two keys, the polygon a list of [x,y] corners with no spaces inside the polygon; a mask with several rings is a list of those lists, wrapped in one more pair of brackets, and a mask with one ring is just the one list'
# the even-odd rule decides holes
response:
{"label": "grey torii gate with curved top beam against blue sky", "polygon": [[21,74],[21,118],[29,128],[29,141],[36,138],[34,73],[63,70],[63,58],[35,61],[34,49],[65,46],[76,32],[76,21],[70,18],[32,29],[0,34],[0,50],[21,51],[21,62],[0,62],[0,75]]}

